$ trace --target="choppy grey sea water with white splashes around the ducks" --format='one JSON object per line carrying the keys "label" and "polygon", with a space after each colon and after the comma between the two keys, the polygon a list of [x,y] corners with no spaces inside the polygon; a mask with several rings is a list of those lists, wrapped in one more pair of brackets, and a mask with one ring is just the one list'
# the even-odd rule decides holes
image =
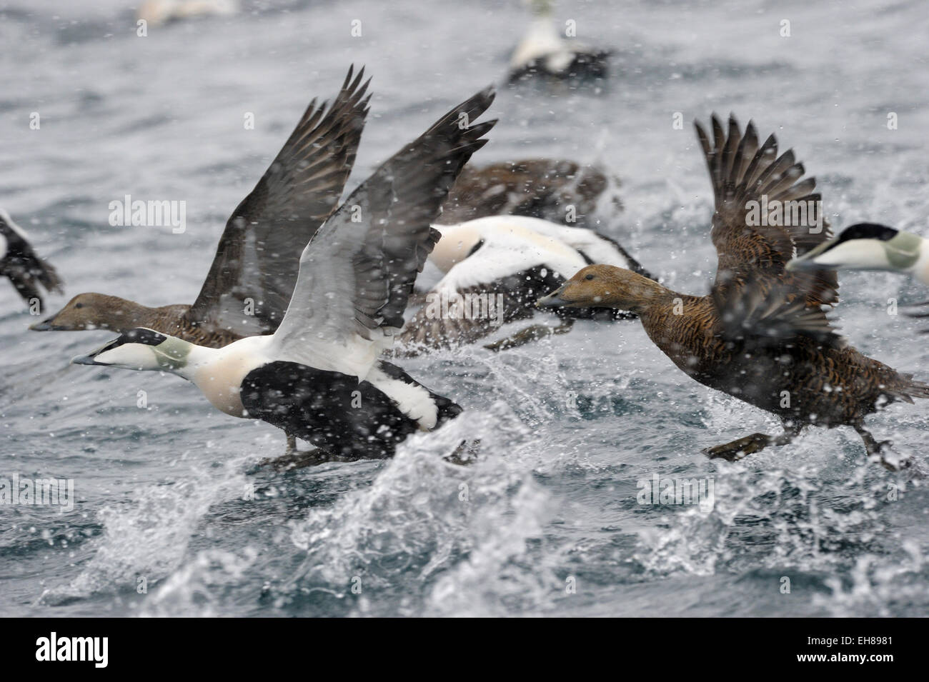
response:
{"label": "choppy grey sea water with white splashes around the ducks", "polygon": [[[500,122],[475,161],[603,161],[622,178],[625,209],[605,209],[601,229],[668,286],[702,294],[712,281],[713,197],[692,122],[713,111],[795,148],[833,225],[929,234],[921,0],[563,0],[556,16],[615,50],[612,77],[502,86]],[[68,295],[50,308],[81,291],[192,302],[229,212],[350,63],[367,66],[374,92],[354,187],[453,104],[502,84],[525,25],[515,0],[245,0],[236,16],[141,38],[129,3],[0,0],[0,205],[65,278]],[[125,194],[185,200],[186,231],[109,225],[109,202]],[[890,299],[925,290],[875,273],[841,282],[835,316],[853,343],[929,379],[919,323],[888,315]],[[0,614],[915,616],[929,606],[924,484],[867,464],[850,429],[809,431],[736,464],[706,459],[702,447],[778,425],[687,379],[638,323],[582,322],[505,354],[478,346],[404,361],[466,413],[390,461],[279,475],[254,465],[280,454],[280,431],[220,414],[171,375],[69,366],[111,333],[26,331],[34,318],[0,285],[0,475],[72,479],[77,498],[70,513],[0,506]],[[893,405],[869,422],[922,469],[927,408]],[[473,435],[476,465],[441,461]],[[638,482],[656,474],[712,482],[713,508],[639,504]]]}

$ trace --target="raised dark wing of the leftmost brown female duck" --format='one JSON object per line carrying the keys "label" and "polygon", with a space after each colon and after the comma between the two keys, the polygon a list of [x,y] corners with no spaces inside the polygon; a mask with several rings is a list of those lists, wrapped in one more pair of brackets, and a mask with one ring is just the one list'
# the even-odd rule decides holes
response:
{"label": "raised dark wing of the leftmost brown female duck", "polygon": [[[303,249],[342,196],[368,113],[364,69],[348,70],[333,106],[309,103],[255,189],[229,217],[188,321],[268,334],[281,323]],[[251,299],[254,315],[247,315]],[[250,313],[252,311],[249,311]]]}

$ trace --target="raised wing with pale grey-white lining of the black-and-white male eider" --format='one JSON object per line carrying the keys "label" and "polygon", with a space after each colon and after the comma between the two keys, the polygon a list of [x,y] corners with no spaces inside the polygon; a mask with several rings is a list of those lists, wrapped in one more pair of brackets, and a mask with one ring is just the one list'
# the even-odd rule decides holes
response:
{"label": "raised wing with pale grey-white lining of the black-and-white male eider", "polygon": [[364,377],[403,325],[416,275],[438,241],[431,227],[464,163],[495,121],[488,88],[443,116],[356,189],[307,244],[276,357]]}

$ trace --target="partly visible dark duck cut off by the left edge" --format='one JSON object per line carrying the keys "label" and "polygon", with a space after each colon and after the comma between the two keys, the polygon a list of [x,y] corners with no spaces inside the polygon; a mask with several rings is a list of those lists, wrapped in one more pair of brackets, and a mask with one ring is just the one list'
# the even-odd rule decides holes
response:
{"label": "partly visible dark duck cut off by the left edge", "polygon": [[0,209],[0,276],[9,279],[35,314],[45,311],[43,290],[64,293],[58,271],[35,253],[26,231],[4,209]]}

